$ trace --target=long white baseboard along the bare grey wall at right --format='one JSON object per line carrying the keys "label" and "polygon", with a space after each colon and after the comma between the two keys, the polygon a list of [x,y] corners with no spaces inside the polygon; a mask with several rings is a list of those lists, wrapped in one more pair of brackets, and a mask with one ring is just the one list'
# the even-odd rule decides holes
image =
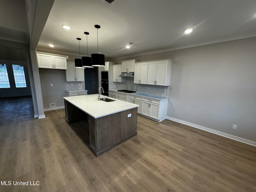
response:
{"label": "long white baseboard along the bare grey wall at right", "polygon": [[220,132],[220,131],[216,131],[216,130],[213,130],[213,129],[210,129],[210,128],[206,128],[206,127],[196,125],[196,124],[193,124],[193,123],[190,123],[190,122],[186,122],[186,121],[183,121],[183,120],[179,120],[179,119],[176,119],[176,118],[172,118],[172,117],[167,116],[166,119],[172,120],[172,121],[175,121],[175,122],[178,122],[178,123],[181,123],[181,124],[185,124],[185,125],[188,125],[188,126],[191,126],[191,127],[194,127],[194,128],[198,128],[198,129],[210,132],[210,133],[214,133],[214,134],[226,137],[226,138],[230,138],[232,140],[236,140],[236,141],[239,141],[239,142],[242,142],[242,143],[246,143],[246,144],[249,144],[249,145],[252,145],[252,146],[256,146],[256,142],[254,142],[254,141],[250,141],[250,140],[247,140],[247,139],[244,139],[244,138],[240,138],[240,137],[237,137],[237,136],[226,134],[226,133],[223,133],[223,132]]}

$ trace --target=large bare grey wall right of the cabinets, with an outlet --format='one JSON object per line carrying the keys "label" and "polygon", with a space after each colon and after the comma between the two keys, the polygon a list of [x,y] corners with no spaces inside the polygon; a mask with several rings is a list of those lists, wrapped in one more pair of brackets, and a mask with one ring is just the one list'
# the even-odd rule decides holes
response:
{"label": "large bare grey wall right of the cabinets, with an outlet", "polygon": [[256,37],[132,58],[173,60],[167,116],[256,142]]}

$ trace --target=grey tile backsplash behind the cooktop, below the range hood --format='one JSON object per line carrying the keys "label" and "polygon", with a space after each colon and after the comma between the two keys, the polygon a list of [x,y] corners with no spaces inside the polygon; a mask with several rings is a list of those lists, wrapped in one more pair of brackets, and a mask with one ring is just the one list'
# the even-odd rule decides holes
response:
{"label": "grey tile backsplash behind the cooktop, below the range hood", "polygon": [[116,82],[116,84],[117,84],[118,90],[121,90],[121,89],[134,90],[140,93],[168,97],[169,86],[135,84],[134,77],[126,77],[126,82],[124,83]]}

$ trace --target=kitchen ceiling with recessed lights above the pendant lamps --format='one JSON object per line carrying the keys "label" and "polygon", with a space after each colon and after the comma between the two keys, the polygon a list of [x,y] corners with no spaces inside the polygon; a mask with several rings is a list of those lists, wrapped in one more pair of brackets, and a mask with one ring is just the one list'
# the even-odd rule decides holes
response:
{"label": "kitchen ceiling with recessed lights above the pendant lamps", "polygon": [[[256,36],[256,0],[55,0],[37,48],[124,58]],[[71,26],[70,30],[62,24]],[[191,34],[184,34],[193,28]],[[130,49],[125,46],[133,43]],[[54,44],[50,48],[48,44]]]}

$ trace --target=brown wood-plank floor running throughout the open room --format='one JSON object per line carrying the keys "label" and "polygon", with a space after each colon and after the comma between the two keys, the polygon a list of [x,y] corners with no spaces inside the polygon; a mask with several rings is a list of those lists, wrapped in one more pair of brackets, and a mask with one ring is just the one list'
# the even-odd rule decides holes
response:
{"label": "brown wood-plank floor running throughout the open room", "polygon": [[34,119],[31,110],[0,100],[1,192],[256,191],[254,146],[138,116],[138,135],[96,158],[86,122],[68,125],[64,109]]}

